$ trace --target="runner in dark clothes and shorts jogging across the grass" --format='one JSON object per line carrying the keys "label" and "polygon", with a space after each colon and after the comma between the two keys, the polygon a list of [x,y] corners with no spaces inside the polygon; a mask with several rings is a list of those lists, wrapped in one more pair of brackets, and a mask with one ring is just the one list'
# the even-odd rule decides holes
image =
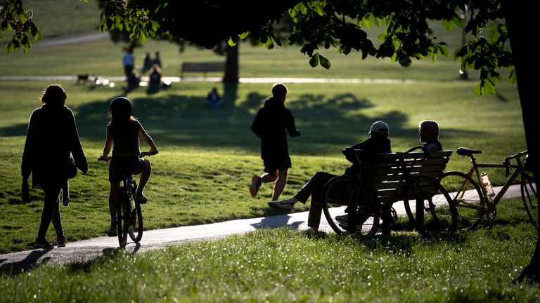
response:
{"label": "runner in dark clothes and shorts jogging across the grass", "polygon": [[272,97],[264,101],[264,106],[251,124],[251,130],[261,140],[261,159],[264,163],[264,174],[255,174],[251,178],[251,196],[257,196],[262,183],[275,182],[272,199],[277,200],[287,184],[288,170],[292,166],[287,133],[291,137],[300,135],[293,113],[285,108],[287,93],[285,84],[274,83]]}

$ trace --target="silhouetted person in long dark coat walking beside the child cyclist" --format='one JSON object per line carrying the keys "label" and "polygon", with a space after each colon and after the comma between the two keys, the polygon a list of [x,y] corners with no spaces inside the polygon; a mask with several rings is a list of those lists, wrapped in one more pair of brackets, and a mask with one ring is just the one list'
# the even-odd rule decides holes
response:
{"label": "silhouetted person in long dark coat walking beside the child cyclist", "polygon": [[46,239],[51,222],[56,231],[56,245],[65,246],[65,234],[60,216],[60,189],[68,182],[65,166],[70,155],[75,165],[83,173],[88,171],[75,116],[65,106],[68,94],[62,86],[50,85],[41,95],[41,107],[34,109],[28,123],[23,152],[21,173],[23,183],[32,174],[32,187],[43,189],[45,193],[41,222],[33,249],[51,249],[53,245]]}

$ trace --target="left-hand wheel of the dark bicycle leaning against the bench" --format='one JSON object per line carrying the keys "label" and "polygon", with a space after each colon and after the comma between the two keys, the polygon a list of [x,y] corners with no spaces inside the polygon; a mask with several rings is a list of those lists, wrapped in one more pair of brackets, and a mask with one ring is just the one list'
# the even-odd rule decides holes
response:
{"label": "left-hand wheel of the dark bicycle leaning against the bench", "polygon": [[[336,217],[345,215],[347,207],[350,210],[345,226]],[[377,233],[380,224],[380,208],[373,197],[363,187],[355,187],[354,180],[345,175],[333,177],[326,184],[323,191],[323,213],[336,234],[350,233],[371,238]]]}

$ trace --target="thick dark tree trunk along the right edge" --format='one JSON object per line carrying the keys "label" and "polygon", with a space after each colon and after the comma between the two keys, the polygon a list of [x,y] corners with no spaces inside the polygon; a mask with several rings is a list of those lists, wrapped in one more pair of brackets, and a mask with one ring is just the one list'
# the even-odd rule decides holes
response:
{"label": "thick dark tree trunk along the right edge", "polygon": [[[525,141],[529,151],[529,160],[532,164],[534,182],[538,184],[539,151],[534,136],[540,130],[540,119],[537,111],[534,110],[536,101],[536,81],[535,72],[540,69],[539,61],[536,60],[536,48],[532,46],[534,41],[534,30],[536,25],[536,11],[520,1],[505,0],[502,2],[503,11],[508,26],[508,36],[510,37],[510,47],[512,48],[512,58],[514,60],[515,72],[518,78],[518,93],[520,95],[521,110],[523,115],[523,126],[525,128]],[[538,188],[537,185],[535,185]],[[536,191],[538,192],[538,191]],[[539,212],[540,218],[540,212]],[[536,237],[536,248],[529,265],[523,269],[516,282],[530,280],[540,282],[540,242]]]}

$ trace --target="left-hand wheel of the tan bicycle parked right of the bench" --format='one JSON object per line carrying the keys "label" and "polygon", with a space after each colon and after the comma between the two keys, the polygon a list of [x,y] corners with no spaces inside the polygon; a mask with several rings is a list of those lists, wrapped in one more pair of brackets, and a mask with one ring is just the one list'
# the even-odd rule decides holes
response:
{"label": "left-hand wheel of the tan bicycle parked right of the bench", "polygon": [[457,229],[468,230],[477,227],[485,208],[484,199],[481,198],[482,189],[477,182],[458,171],[443,173],[440,182],[458,210]]}

